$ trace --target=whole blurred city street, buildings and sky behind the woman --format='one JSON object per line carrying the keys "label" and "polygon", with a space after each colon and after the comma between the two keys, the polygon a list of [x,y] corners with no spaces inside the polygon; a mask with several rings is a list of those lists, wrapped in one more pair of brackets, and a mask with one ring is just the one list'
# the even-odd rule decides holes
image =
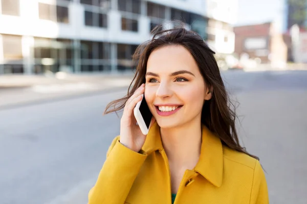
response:
{"label": "whole blurred city street, buildings and sky behind the woman", "polygon": [[307,203],[306,0],[0,0],[0,203],[87,202],[119,134],[103,110],[171,20],[216,52],[270,203]]}

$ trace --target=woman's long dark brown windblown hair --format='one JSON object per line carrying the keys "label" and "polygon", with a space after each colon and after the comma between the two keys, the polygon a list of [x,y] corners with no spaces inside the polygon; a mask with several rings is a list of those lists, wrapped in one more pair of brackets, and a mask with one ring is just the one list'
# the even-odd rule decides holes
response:
{"label": "woman's long dark brown windblown hair", "polygon": [[215,53],[208,47],[203,38],[182,26],[165,30],[162,25],[158,25],[152,31],[152,35],[151,40],[138,46],[133,56],[133,60],[136,63],[136,73],[128,88],[127,95],[109,103],[105,108],[104,114],[122,110],[127,99],[142,83],[145,83],[147,61],[154,49],[166,45],[182,45],[192,54],[205,83],[213,90],[211,99],[205,101],[203,105],[201,122],[219,137],[224,145],[259,160],[258,157],[250,155],[246,148],[239,144],[235,127],[235,120],[237,118],[235,106],[230,101],[226,92],[220,69],[214,58]]}

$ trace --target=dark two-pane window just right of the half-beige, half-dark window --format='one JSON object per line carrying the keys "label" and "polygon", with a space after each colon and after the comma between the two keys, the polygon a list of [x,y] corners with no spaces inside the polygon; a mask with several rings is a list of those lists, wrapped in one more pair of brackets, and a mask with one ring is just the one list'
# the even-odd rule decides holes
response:
{"label": "dark two-pane window just right of the half-beige, half-dark window", "polygon": [[107,27],[107,15],[102,13],[95,13],[91,11],[85,11],[84,24],[93,27],[106,28]]}

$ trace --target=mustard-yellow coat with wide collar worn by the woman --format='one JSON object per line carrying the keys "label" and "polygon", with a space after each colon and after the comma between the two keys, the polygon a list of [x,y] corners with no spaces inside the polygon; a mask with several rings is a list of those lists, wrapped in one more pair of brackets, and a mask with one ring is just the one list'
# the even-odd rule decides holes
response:
{"label": "mustard-yellow coat with wide collar worn by the woman", "polygon": [[[102,203],[171,204],[169,166],[157,122],[140,152],[122,145],[119,136],[113,140],[89,193],[89,204]],[[199,162],[185,171],[174,203],[267,204],[264,171],[258,160],[222,145],[203,125]]]}

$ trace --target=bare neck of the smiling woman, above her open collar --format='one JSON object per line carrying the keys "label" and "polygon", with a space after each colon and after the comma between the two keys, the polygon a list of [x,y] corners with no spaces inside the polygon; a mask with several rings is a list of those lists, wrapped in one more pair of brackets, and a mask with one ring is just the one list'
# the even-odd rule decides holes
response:
{"label": "bare neck of the smiling woman, above her open collar", "polygon": [[178,168],[192,169],[199,160],[202,145],[201,122],[191,121],[173,129],[161,129],[168,161]]}

